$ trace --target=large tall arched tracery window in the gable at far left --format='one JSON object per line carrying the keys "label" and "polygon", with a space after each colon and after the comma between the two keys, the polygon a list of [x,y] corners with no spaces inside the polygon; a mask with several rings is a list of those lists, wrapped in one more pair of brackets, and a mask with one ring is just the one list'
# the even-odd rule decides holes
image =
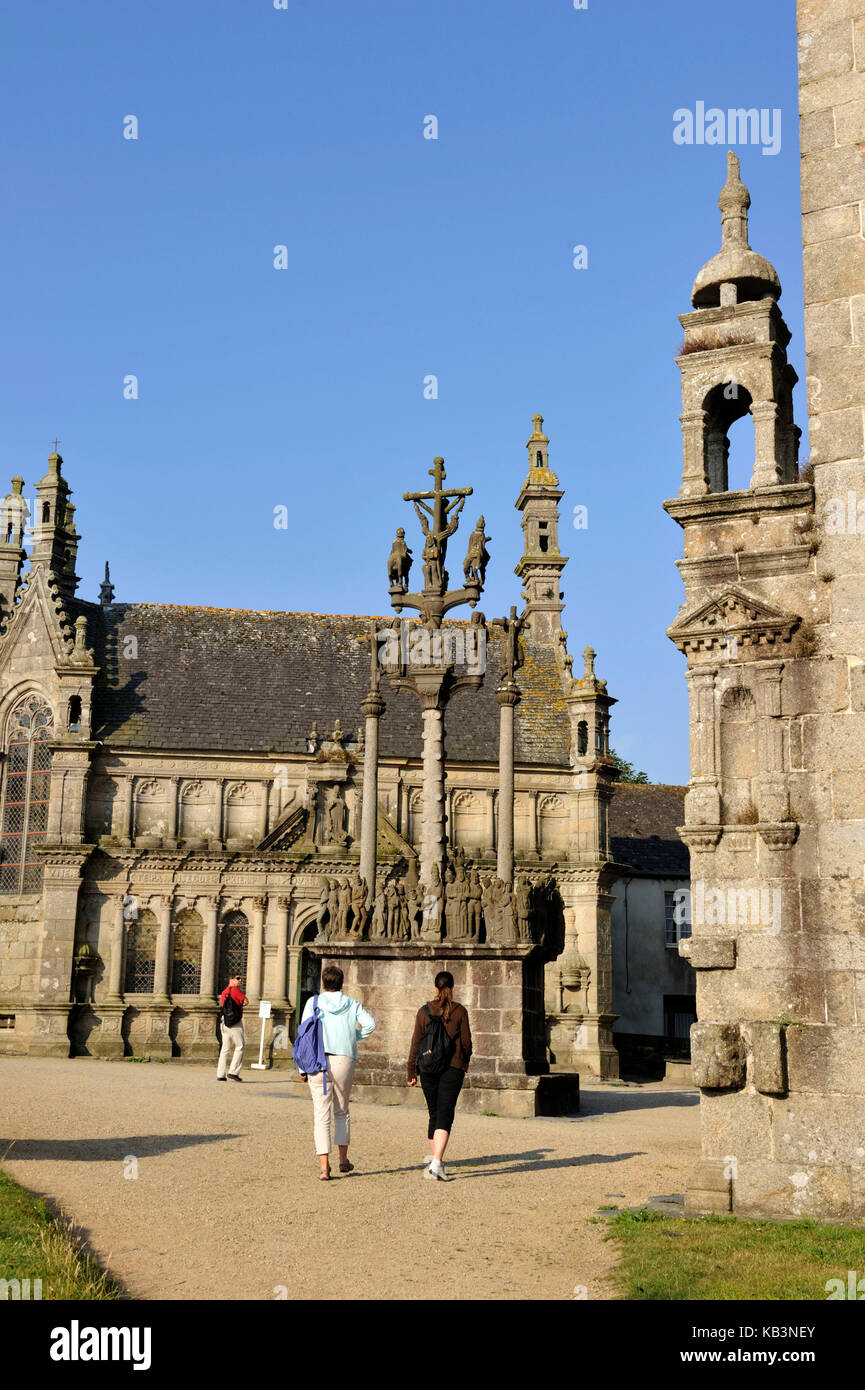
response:
{"label": "large tall arched tracery window in the gable at far left", "polygon": [[42,863],[35,849],[49,827],[51,712],[40,695],[28,695],[10,717],[0,837],[0,892],[40,892]]}

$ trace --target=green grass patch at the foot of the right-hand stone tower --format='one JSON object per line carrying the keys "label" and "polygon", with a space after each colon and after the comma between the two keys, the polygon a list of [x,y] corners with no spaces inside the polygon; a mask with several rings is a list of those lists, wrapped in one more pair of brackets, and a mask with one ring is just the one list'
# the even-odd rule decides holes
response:
{"label": "green grass patch at the foot of the right-hand stone tower", "polygon": [[620,1248],[609,1279],[617,1298],[827,1298],[829,1279],[865,1277],[865,1230],[655,1211],[619,1212],[606,1240]]}

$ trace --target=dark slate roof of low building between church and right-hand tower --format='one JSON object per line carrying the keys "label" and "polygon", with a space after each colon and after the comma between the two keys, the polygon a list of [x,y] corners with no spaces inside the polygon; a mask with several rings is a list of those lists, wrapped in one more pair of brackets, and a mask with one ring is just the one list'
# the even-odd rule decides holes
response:
{"label": "dark slate roof of low building between church and right-hand tower", "polygon": [[688,848],[676,833],[677,826],[684,826],[686,790],[616,783],[609,808],[609,844],[616,863],[655,878],[690,877]]}

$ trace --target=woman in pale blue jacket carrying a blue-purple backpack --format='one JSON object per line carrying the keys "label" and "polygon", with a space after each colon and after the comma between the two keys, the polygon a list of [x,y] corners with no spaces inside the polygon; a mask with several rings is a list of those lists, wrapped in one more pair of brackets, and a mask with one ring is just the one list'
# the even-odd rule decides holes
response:
{"label": "woman in pale blue jacket carrying a blue-purple backpack", "polygon": [[369,1038],[375,1029],[375,1019],[363,1005],[342,994],[342,980],[343,974],[338,965],[325,966],[321,972],[321,994],[306,1001],[300,1019],[306,1023],[313,1016],[317,998],[327,1072],[316,1072],[307,1076],[306,1081],[313,1098],[313,1136],[318,1155],[318,1177],[323,1182],[331,1176],[331,1140],[335,1140],[339,1150],[339,1172],[350,1173],[355,1169],[355,1165],[349,1163],[349,1095],[355,1080],[357,1042]]}

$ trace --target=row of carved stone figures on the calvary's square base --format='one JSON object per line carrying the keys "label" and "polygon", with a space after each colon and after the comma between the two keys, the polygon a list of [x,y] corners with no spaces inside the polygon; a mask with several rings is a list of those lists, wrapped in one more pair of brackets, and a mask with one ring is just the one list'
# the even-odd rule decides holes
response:
{"label": "row of carved stone figures on the calvary's square base", "polygon": [[552,881],[530,881],[517,874],[513,885],[495,874],[481,874],[462,855],[448,863],[444,883],[437,877],[426,891],[417,874],[388,876],[369,902],[357,872],[323,878],[318,898],[318,941],[441,940],[490,945],[528,944],[542,938]]}

